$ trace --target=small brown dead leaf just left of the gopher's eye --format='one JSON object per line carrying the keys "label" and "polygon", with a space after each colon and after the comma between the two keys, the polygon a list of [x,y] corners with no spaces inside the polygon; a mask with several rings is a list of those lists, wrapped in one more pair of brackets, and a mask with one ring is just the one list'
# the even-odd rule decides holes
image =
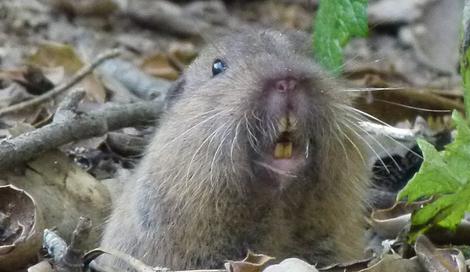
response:
{"label": "small brown dead leaf just left of the gopher's eye", "polygon": [[173,67],[168,55],[163,53],[156,53],[146,58],[141,67],[144,72],[156,77],[176,80],[179,76],[178,70]]}

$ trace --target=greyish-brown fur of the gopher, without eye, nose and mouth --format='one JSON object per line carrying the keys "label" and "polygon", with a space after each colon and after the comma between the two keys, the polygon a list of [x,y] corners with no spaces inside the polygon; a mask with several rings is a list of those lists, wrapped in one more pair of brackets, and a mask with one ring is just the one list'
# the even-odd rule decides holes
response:
{"label": "greyish-brown fur of the gopher, without eye, nose and mouth", "polygon": [[[356,115],[309,48],[303,34],[271,30],[209,45],[170,94],[102,246],[171,269],[221,267],[248,249],[320,264],[359,257],[367,178]],[[229,68],[212,77],[215,58]],[[288,182],[256,163],[276,133],[263,116],[262,82],[286,73],[308,82],[296,137],[312,143],[307,167]]]}

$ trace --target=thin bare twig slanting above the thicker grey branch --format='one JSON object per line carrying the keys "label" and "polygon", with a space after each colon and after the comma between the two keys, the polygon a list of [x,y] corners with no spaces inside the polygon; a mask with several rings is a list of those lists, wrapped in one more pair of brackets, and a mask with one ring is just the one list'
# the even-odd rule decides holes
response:
{"label": "thin bare twig slanting above the thicker grey branch", "polygon": [[36,106],[38,104],[41,104],[41,103],[47,101],[48,99],[53,98],[54,96],[60,94],[61,92],[65,91],[65,90],[69,89],[70,87],[72,87],[73,85],[77,84],[80,80],[85,78],[89,73],[91,73],[93,71],[93,69],[95,69],[101,63],[103,63],[105,60],[110,59],[110,58],[114,58],[118,55],[119,55],[119,50],[111,50],[111,51],[108,51],[108,52],[105,52],[105,53],[99,55],[96,58],[95,61],[93,61],[92,63],[90,63],[88,65],[83,66],[72,78],[70,78],[68,81],[58,85],[57,87],[55,87],[51,91],[49,91],[47,93],[44,93],[40,96],[37,96],[33,99],[26,100],[24,102],[21,102],[21,103],[18,103],[18,104],[0,109],[0,117],[4,116],[6,114],[9,114],[9,113],[18,112],[18,111],[23,110],[23,109],[28,108],[28,107]]}

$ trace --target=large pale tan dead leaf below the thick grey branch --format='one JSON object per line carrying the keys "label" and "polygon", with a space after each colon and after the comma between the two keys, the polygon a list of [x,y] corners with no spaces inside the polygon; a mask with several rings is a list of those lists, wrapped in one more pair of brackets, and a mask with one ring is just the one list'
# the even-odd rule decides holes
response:
{"label": "large pale tan dead leaf below the thick grey branch", "polygon": [[96,245],[100,228],[109,215],[107,188],[59,151],[47,152],[28,162],[23,171],[4,172],[2,176],[6,183],[24,188],[34,197],[42,211],[44,226],[54,226],[70,237],[77,218],[86,216],[96,223],[86,245],[90,248]]}

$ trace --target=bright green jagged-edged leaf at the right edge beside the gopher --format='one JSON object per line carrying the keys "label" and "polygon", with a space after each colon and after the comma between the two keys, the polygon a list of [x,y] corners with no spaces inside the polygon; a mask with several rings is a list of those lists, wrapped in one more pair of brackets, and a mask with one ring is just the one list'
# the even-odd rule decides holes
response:
{"label": "bright green jagged-edged leaf at the right edge beside the gopher", "polygon": [[413,213],[410,237],[430,226],[454,230],[465,212],[470,211],[470,128],[455,111],[452,119],[457,125],[457,136],[444,151],[438,152],[430,143],[418,141],[424,162],[398,195],[408,202],[436,198]]}

